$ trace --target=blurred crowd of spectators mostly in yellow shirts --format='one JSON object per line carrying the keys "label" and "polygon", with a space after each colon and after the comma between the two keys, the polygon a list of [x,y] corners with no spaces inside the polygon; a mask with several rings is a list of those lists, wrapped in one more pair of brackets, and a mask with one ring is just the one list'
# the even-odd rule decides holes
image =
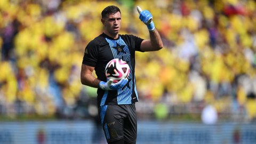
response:
{"label": "blurred crowd of spectators mostly in yellow shirts", "polygon": [[136,53],[138,117],[200,114],[210,105],[219,115],[255,119],[252,0],[1,0],[0,115],[97,115],[97,89],[81,84],[80,71],[108,5],[121,10],[120,34],[149,39],[140,6],[163,40],[160,51]]}

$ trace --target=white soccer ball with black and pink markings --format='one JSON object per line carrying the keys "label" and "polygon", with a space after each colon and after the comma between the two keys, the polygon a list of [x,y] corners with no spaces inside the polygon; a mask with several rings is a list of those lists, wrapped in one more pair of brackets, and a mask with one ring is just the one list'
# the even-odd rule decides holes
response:
{"label": "white soccer ball with black and pink markings", "polygon": [[129,65],[121,59],[110,60],[105,68],[105,75],[108,79],[113,79],[114,83],[122,78],[127,78],[130,74]]}

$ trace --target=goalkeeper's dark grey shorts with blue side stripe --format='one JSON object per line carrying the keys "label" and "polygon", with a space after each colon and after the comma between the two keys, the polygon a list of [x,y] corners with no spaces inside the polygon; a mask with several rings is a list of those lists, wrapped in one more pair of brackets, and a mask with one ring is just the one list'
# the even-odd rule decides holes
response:
{"label": "goalkeeper's dark grey shorts with blue side stripe", "polygon": [[137,116],[135,103],[130,105],[106,105],[99,107],[99,116],[107,142],[124,138],[136,143]]}

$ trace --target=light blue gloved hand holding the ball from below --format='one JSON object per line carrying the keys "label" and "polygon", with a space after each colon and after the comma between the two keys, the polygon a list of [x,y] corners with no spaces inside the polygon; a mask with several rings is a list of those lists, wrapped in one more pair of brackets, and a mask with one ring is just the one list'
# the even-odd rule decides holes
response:
{"label": "light blue gloved hand holding the ball from below", "polygon": [[123,78],[117,83],[113,83],[113,79],[109,79],[107,83],[101,81],[99,85],[100,85],[100,89],[102,90],[118,90],[124,87],[127,84],[127,82],[128,82],[127,78]]}

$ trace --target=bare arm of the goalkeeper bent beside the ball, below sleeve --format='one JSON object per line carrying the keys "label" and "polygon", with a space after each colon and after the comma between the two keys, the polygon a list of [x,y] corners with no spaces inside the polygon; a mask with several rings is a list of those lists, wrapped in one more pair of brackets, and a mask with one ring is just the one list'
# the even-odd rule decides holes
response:
{"label": "bare arm of the goalkeeper bent beside the ball, below sleeve", "polygon": [[83,85],[99,88],[100,80],[92,76],[93,70],[94,70],[94,67],[90,67],[82,64],[81,83]]}

